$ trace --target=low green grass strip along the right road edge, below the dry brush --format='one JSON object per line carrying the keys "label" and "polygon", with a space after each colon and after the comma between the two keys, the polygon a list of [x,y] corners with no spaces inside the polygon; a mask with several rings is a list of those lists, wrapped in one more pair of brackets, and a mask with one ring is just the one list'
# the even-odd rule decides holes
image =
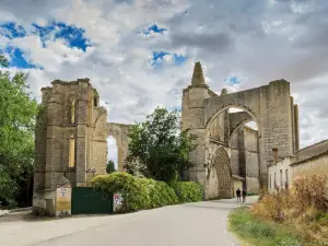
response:
{"label": "low green grass strip along the right road edge, below the dry brush", "polygon": [[[244,242],[244,245],[256,246],[320,246],[302,239],[288,225],[266,222],[256,219],[248,208],[239,208],[229,216],[229,227]],[[246,244],[248,243],[248,244]]]}

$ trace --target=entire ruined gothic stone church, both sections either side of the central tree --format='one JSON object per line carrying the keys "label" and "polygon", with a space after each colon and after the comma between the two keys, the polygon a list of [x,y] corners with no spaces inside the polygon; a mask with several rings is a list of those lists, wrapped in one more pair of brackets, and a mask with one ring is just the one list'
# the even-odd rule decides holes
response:
{"label": "entire ruined gothic stone church, both sections either side of the central tree", "polygon": [[[79,187],[105,174],[108,136],[116,139],[118,171],[124,172],[131,127],[107,122],[89,79],[51,84],[42,89],[35,134],[33,206],[46,210],[55,206],[62,176]],[[243,112],[230,113],[231,107]],[[245,127],[249,121],[258,130]],[[200,62],[183,92],[181,128],[197,136],[197,149],[190,154],[196,165],[187,176],[204,187],[206,198],[232,197],[235,178],[244,180],[247,191],[259,191],[268,184],[272,153],[283,157],[298,150],[298,109],[289,82],[272,81],[236,93],[223,89],[219,95],[206,84]]]}

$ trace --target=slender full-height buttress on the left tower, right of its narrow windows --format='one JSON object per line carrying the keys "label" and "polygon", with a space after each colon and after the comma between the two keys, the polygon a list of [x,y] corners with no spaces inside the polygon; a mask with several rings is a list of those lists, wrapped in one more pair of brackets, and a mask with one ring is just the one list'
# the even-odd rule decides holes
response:
{"label": "slender full-height buttress on the left tower, right of its narrow windows", "polygon": [[89,79],[80,79],[77,107],[77,186],[86,181],[86,120],[87,120],[87,89]]}

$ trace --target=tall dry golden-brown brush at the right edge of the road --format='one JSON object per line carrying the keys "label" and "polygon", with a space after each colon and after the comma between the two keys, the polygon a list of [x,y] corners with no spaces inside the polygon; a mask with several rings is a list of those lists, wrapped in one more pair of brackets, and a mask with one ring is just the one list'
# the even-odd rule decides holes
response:
{"label": "tall dry golden-brown brush at the right edge of the road", "polygon": [[263,191],[260,201],[251,207],[251,213],[259,219],[293,225],[303,238],[328,245],[327,195],[327,176],[298,176],[290,190]]}

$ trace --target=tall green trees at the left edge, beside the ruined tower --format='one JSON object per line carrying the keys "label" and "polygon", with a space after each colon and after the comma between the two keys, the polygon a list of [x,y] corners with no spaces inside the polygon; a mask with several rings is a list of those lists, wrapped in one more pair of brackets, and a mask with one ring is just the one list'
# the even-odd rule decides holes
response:
{"label": "tall green trees at the left edge, beside the ruined tower", "polygon": [[[8,61],[0,56],[0,66]],[[0,71],[0,201],[26,206],[32,186],[37,103],[31,98],[28,74]],[[27,195],[27,196],[26,196]],[[26,201],[26,198],[28,201]]]}

